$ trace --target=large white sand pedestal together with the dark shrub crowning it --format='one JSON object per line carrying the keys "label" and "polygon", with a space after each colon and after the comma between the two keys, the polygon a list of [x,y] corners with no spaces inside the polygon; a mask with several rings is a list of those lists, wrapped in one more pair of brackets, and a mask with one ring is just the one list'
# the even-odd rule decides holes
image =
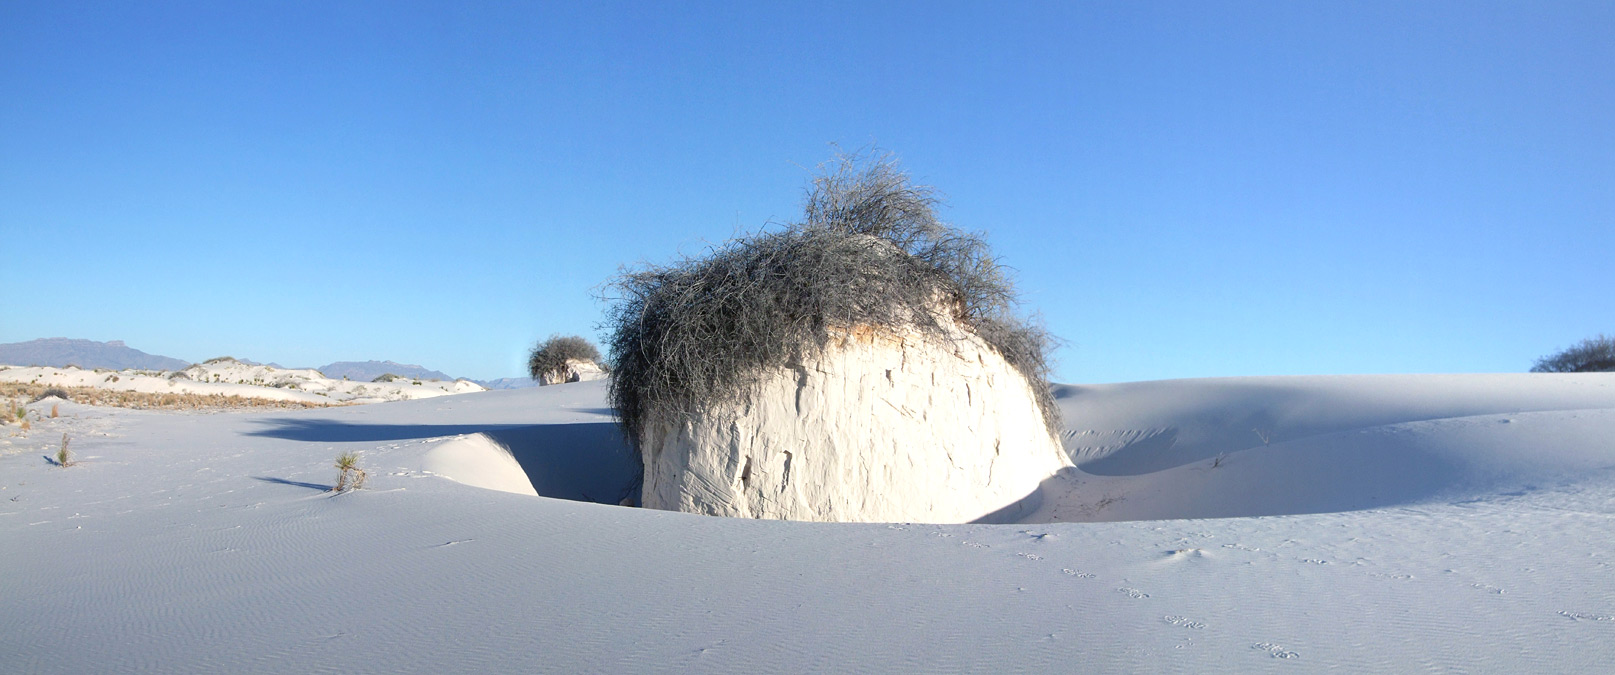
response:
{"label": "large white sand pedestal together with the dark shrub crowning it", "polygon": [[610,400],[643,505],[969,522],[1069,465],[1048,334],[935,203],[888,157],[841,157],[803,221],[615,279]]}

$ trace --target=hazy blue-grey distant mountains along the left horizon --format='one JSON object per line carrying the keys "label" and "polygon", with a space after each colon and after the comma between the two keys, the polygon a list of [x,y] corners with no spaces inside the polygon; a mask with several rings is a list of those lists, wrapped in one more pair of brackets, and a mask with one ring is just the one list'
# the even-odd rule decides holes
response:
{"label": "hazy blue-grey distant mountains along the left horizon", "polygon": [[[245,358],[236,358],[247,365],[258,365]],[[27,342],[10,342],[0,344],[0,363],[5,365],[44,365],[53,368],[63,368],[68,365],[76,365],[79,368],[108,368],[108,370],[184,370],[191,362],[160,357],[155,354],[145,354],[139,349],[132,349],[123,344],[121,339],[111,342],[95,342],[92,339],[68,339],[68,338],[45,338]],[[266,363],[275,368],[284,368],[278,363]],[[326,378],[339,379],[355,379],[355,381],[371,381],[383,375],[397,375],[401,378],[410,379],[459,379],[452,375],[446,375],[438,370],[426,370],[420,365],[412,363],[396,363],[396,362],[336,362],[328,363],[318,371],[325,373]],[[525,389],[530,386],[538,386],[531,378],[499,378],[499,379],[472,379],[489,389]]]}

